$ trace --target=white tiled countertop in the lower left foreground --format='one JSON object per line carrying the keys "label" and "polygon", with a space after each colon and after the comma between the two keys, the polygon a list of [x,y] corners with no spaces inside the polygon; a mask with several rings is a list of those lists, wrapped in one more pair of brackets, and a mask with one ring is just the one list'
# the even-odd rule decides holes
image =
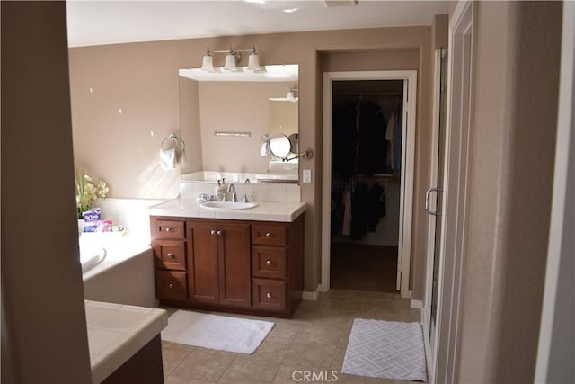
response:
{"label": "white tiled countertop in the lower left foreground", "polygon": [[164,309],[85,300],[92,381],[100,383],[168,325]]}

